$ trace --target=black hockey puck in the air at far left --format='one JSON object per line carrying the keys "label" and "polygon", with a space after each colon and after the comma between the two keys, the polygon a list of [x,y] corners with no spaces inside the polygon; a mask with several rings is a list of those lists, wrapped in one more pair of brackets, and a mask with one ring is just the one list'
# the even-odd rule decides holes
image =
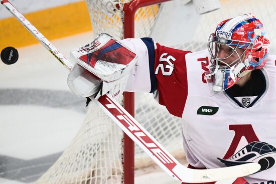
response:
{"label": "black hockey puck in the air at far left", "polygon": [[7,65],[16,63],[18,57],[18,51],[13,47],[6,47],[1,51],[1,60]]}

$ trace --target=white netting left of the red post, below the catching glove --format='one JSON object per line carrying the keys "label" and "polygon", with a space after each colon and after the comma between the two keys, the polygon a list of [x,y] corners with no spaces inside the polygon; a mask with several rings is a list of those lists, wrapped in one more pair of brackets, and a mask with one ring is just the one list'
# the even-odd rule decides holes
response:
{"label": "white netting left of the red post, below the catching glove", "polygon": [[120,183],[122,132],[94,103],[71,145],[36,183]]}

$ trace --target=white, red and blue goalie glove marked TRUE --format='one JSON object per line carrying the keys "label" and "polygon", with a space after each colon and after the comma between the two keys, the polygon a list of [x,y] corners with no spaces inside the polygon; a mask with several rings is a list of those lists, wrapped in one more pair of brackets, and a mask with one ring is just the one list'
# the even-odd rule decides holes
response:
{"label": "white, red and blue goalie glove marked TRUE", "polygon": [[77,95],[98,99],[110,93],[122,94],[128,75],[136,63],[136,54],[107,34],[71,51],[76,62],[68,75],[68,86]]}

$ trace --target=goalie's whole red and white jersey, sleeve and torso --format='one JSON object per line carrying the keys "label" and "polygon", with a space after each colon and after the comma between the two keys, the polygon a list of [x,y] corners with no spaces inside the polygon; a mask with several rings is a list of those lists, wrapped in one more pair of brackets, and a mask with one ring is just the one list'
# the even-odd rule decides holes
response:
{"label": "goalie's whole red and white jersey, sleeve and torso", "polygon": [[259,70],[264,82],[259,96],[209,96],[203,74],[210,61],[207,50],[176,50],[150,38],[122,42],[139,57],[126,90],[154,92],[171,114],[182,117],[184,149],[192,166],[259,162],[262,170],[244,178],[276,182],[276,56],[269,56]]}

